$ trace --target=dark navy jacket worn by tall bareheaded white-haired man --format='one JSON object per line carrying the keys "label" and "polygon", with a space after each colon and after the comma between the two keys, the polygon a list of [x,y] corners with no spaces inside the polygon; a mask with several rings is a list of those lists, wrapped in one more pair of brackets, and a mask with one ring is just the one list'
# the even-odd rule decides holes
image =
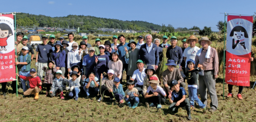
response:
{"label": "dark navy jacket worn by tall bareheaded white-haired man", "polygon": [[[152,43],[153,44],[153,43]],[[157,45],[153,44],[151,51],[148,53],[146,43],[141,45],[139,51],[139,59],[145,62],[146,65],[157,65],[159,63],[159,53]]]}

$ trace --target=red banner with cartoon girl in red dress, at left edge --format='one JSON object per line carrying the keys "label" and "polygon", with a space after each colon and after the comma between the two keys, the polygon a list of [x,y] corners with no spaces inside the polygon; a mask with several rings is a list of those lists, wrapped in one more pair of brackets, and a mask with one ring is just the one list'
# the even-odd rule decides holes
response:
{"label": "red banner with cartoon girl in red dress, at left edge", "polygon": [[0,83],[16,79],[15,33],[12,14],[0,15]]}

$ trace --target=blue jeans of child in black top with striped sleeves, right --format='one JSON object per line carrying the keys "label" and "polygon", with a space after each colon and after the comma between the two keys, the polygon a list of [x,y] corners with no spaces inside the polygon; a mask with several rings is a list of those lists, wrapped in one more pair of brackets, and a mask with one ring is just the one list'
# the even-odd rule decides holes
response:
{"label": "blue jeans of child in black top with striped sleeves, right", "polygon": [[188,87],[188,91],[189,91],[189,101],[190,101],[190,105],[194,106],[194,101],[198,103],[198,106],[200,108],[204,108],[205,105],[203,104],[203,102],[200,101],[200,99],[197,97],[197,88],[195,87]]}

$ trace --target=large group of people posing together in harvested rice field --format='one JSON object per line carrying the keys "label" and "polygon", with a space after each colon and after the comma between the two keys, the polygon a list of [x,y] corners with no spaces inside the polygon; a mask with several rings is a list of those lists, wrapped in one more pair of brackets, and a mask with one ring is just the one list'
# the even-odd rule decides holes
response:
{"label": "large group of people posing together in harvested rice field", "polygon": [[[167,36],[163,36],[163,42],[160,44],[160,39],[154,39],[152,42],[152,35],[146,35],[145,38],[138,36],[137,43],[134,40],[127,43],[124,35],[114,35],[112,44],[110,41],[101,44],[101,40],[97,38],[93,47],[87,43],[87,36],[83,36],[78,45],[73,41],[73,33],[68,34],[69,41],[63,37],[55,41],[55,35],[50,35],[49,39],[47,35],[42,35],[43,44],[38,45],[36,49],[37,71],[30,69],[34,51],[27,45],[27,36],[18,32],[16,38],[15,65],[19,70],[17,76],[20,78],[23,94],[35,95],[34,99],[38,99],[42,83],[46,86],[46,96],[59,95],[64,99],[63,90],[69,90],[69,96],[78,101],[79,92],[82,90],[86,96],[104,94],[111,100],[116,99],[120,104],[125,101],[131,108],[137,107],[140,95],[151,103],[150,107],[157,108],[162,108],[161,104],[169,98],[169,110],[177,113],[179,107],[186,107],[188,119],[191,120],[190,111],[194,109],[194,101],[204,113],[206,112],[208,90],[211,99],[209,111],[214,112],[218,108],[215,79],[218,78],[219,59],[215,48],[210,47],[212,42],[207,37],[198,40],[191,35],[181,41],[181,48],[176,45],[175,36],[171,37],[169,45]],[[196,43],[202,48],[198,48]],[[165,65],[168,69],[160,76],[164,86],[161,87],[155,72],[162,62],[163,48],[167,48],[168,60]],[[124,71],[127,86],[125,91],[122,86]],[[184,90],[184,79],[187,79],[189,99],[185,96],[187,93]],[[15,83],[16,81],[12,82],[14,90]],[[2,83],[4,96],[5,88],[6,83]],[[242,89],[243,87],[239,86],[239,99],[242,99]],[[228,96],[232,96],[230,85]],[[100,97],[97,101],[102,99]]]}

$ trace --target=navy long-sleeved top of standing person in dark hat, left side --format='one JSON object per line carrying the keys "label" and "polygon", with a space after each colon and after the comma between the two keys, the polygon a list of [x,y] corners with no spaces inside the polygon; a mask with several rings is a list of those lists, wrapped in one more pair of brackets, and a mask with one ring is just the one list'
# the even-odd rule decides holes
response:
{"label": "navy long-sleeved top of standing person in dark hat, left side", "polygon": [[[59,54],[59,56],[58,56]],[[55,62],[56,67],[66,67],[66,51],[62,50],[56,53],[55,51],[52,52],[52,60]]]}

